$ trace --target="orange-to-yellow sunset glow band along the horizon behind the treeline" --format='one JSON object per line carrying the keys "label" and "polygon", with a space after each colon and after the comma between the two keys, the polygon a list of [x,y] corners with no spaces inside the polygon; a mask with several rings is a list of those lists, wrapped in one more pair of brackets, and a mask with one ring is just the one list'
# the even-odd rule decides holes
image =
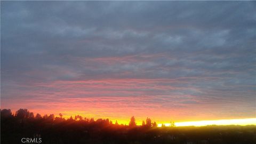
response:
{"label": "orange-to-yellow sunset glow band along the horizon behind the treeline", "polygon": [[[105,111],[105,113],[102,114],[97,114],[94,113],[95,110],[90,108],[89,111],[84,111],[84,110],[72,110],[69,111],[67,109],[63,110],[42,110],[42,109],[28,109],[30,112],[33,112],[34,115],[37,113],[41,114],[43,117],[44,115],[50,115],[54,114],[55,117],[59,117],[59,114],[61,113],[63,118],[68,119],[70,116],[75,118],[76,115],[82,116],[84,118],[94,118],[94,121],[97,121],[97,119],[102,118],[102,119],[109,119],[109,121],[112,121],[113,124],[117,121],[118,124],[123,124],[123,125],[129,125],[130,118],[133,115],[127,116],[127,115],[122,115],[122,113],[115,113],[116,116],[113,117],[113,115],[110,115]],[[51,111],[55,111],[52,113]],[[13,111],[13,114],[15,112]],[[141,113],[138,113],[134,115],[135,121],[137,125],[141,125],[142,121],[146,122],[147,115],[140,115]],[[158,127],[161,127],[162,124],[165,126],[170,126],[170,121],[174,122],[175,126],[206,126],[206,125],[256,125],[256,117],[253,118],[236,118],[236,119],[214,119],[214,120],[202,120],[202,121],[197,121],[197,119],[193,120],[187,120],[184,117],[179,117],[180,119],[170,119],[170,121],[166,121],[166,117],[163,118],[158,115],[158,117],[154,116],[156,113],[151,113],[149,118],[151,119],[151,122],[156,122]],[[145,117],[146,116],[146,117]],[[152,117],[151,117],[152,116]],[[168,119],[168,118],[167,118]],[[202,118],[203,119],[203,118]]]}

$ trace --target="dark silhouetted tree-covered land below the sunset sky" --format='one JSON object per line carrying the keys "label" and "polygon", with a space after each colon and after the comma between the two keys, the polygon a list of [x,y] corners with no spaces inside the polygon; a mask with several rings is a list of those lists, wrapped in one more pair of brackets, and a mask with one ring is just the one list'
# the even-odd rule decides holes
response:
{"label": "dark silhouetted tree-covered land below the sunset sky", "polygon": [[[132,119],[131,119],[132,120]],[[135,120],[135,119],[134,119]],[[135,121],[134,121],[135,122]],[[150,122],[150,123],[149,123]],[[26,141],[28,138],[29,141]],[[156,127],[113,124],[108,119],[34,116],[26,109],[1,110],[1,143],[256,143],[256,126]]]}

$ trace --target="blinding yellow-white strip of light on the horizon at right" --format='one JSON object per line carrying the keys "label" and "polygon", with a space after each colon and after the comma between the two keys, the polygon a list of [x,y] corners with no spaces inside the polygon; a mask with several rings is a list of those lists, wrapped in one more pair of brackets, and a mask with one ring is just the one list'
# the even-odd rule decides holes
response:
{"label": "blinding yellow-white strip of light on the horizon at right", "polygon": [[[170,126],[170,123],[165,123],[165,126]],[[175,126],[206,126],[206,125],[256,125],[256,118],[243,119],[219,119],[211,121],[193,121],[193,122],[177,122]],[[161,127],[162,124],[158,124]]]}

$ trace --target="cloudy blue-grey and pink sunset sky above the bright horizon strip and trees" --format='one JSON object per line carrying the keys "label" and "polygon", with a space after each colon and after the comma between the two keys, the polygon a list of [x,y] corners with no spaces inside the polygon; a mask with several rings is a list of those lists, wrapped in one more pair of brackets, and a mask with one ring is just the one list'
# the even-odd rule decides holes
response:
{"label": "cloudy blue-grey and pink sunset sky above the bright horizon strip and trees", "polygon": [[1,1],[1,108],[256,117],[256,3]]}

